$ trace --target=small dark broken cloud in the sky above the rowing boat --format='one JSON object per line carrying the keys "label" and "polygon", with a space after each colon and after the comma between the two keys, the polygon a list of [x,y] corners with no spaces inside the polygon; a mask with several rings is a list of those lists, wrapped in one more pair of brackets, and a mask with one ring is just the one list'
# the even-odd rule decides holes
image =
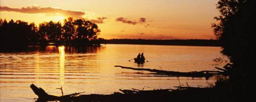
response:
{"label": "small dark broken cloud in the sky above the rowing boat", "polygon": [[137,23],[141,23],[141,24],[145,23],[146,22],[146,18],[141,17],[141,18],[139,18],[139,20],[133,20],[132,21],[132,20],[128,20],[127,18],[124,18],[124,17],[118,17],[118,18],[116,18],[116,21],[135,25]]}

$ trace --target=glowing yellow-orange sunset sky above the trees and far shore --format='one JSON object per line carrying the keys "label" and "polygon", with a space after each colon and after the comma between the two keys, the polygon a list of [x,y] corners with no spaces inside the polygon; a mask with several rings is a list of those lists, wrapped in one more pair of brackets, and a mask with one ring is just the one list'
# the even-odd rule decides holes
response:
{"label": "glowing yellow-orange sunset sky above the trees and far shore", "polygon": [[86,18],[101,38],[215,39],[218,0],[1,0],[2,19],[35,22]]}

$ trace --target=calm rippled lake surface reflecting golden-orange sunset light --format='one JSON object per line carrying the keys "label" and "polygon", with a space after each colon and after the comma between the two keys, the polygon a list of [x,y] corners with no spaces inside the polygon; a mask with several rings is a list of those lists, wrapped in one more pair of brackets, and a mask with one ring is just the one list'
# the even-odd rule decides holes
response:
{"label": "calm rippled lake surface reflecting golden-orange sunset light", "polygon": [[[35,101],[30,84],[61,95],[111,94],[119,89],[152,90],[181,85],[205,87],[217,78],[185,78],[156,75],[147,71],[121,69],[114,65],[172,71],[216,70],[212,60],[222,57],[221,47],[106,44],[101,47],[30,47],[23,53],[0,53],[0,101]],[[144,53],[146,62],[134,61]],[[161,67],[161,68],[160,68]]]}

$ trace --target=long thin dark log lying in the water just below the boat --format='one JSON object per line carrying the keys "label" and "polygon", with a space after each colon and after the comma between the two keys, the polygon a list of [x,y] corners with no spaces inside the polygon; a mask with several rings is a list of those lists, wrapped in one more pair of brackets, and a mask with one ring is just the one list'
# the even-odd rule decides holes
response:
{"label": "long thin dark log lying in the water just below the boat", "polygon": [[156,74],[168,75],[170,77],[193,77],[193,78],[209,78],[215,74],[225,74],[223,71],[212,71],[212,70],[203,70],[203,71],[191,71],[191,72],[179,72],[179,71],[166,71],[166,70],[157,70],[150,68],[133,68],[133,67],[124,67],[116,65],[115,67],[121,67],[124,69],[140,70],[140,71],[150,71],[156,72]]}

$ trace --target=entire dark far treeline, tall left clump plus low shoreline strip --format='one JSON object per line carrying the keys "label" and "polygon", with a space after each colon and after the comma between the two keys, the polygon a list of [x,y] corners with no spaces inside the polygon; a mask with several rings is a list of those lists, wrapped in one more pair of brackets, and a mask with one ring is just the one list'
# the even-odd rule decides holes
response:
{"label": "entire dark far treeline, tall left clump plus low shoreline strip", "polygon": [[0,18],[0,49],[24,49],[28,45],[100,45],[109,44],[152,44],[152,45],[195,45],[219,46],[217,40],[144,40],[97,38],[100,30],[97,24],[86,19],[68,18],[61,22],[35,23]]}

